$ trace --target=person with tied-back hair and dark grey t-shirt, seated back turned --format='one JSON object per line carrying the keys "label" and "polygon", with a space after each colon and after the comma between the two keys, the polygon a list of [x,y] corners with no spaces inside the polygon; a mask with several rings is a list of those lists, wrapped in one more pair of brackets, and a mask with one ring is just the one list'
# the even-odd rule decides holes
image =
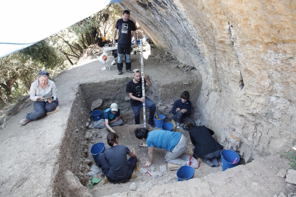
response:
{"label": "person with tied-back hair and dark grey t-shirt, seated back turned", "polygon": [[[112,183],[129,180],[139,158],[128,147],[118,145],[116,133],[108,133],[107,143],[111,147],[99,154],[99,166],[103,167],[105,176]],[[130,158],[127,159],[126,155]]]}

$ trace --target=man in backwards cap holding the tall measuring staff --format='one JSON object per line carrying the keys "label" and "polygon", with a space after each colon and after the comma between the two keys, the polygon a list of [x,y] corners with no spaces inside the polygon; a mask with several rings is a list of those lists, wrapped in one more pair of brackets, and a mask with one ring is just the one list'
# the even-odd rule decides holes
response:
{"label": "man in backwards cap holding the tall measuring staff", "polygon": [[[131,107],[133,108],[133,114],[135,115],[135,124],[140,124],[140,110],[143,107],[143,102],[145,106],[149,108],[149,119],[148,123],[150,126],[155,128],[154,124],[154,113],[156,106],[154,102],[149,100],[147,97],[142,98],[142,79],[141,71],[139,69],[134,69],[133,79],[126,84],[126,92],[128,93],[131,100]],[[146,74],[144,74],[144,84],[152,86]]]}

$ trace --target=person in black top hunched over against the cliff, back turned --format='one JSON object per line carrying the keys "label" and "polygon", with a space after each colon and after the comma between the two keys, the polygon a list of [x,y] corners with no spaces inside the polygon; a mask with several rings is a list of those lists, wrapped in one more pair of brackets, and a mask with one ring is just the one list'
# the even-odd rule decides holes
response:
{"label": "person in black top hunched over against the cliff, back turned", "polygon": [[189,136],[194,146],[192,149],[193,157],[202,158],[210,167],[219,167],[217,157],[220,157],[223,146],[212,137],[214,131],[204,125],[194,126],[190,121],[184,123],[184,128],[189,131]]}

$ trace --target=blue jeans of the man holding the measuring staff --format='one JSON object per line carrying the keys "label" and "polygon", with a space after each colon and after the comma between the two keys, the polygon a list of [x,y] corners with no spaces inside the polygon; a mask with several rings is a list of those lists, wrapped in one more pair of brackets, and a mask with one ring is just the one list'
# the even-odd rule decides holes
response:
{"label": "blue jeans of the man holding the measuring staff", "polygon": [[[152,102],[151,100],[147,99],[145,100],[145,106],[147,108],[149,108],[149,119],[148,119],[148,123],[150,125],[154,125],[154,114],[155,114],[155,109],[156,106],[154,104],[154,102]],[[140,110],[143,107],[143,103],[141,103],[138,106],[131,106],[133,108],[133,114],[135,115],[135,124],[138,125],[140,124]]]}

